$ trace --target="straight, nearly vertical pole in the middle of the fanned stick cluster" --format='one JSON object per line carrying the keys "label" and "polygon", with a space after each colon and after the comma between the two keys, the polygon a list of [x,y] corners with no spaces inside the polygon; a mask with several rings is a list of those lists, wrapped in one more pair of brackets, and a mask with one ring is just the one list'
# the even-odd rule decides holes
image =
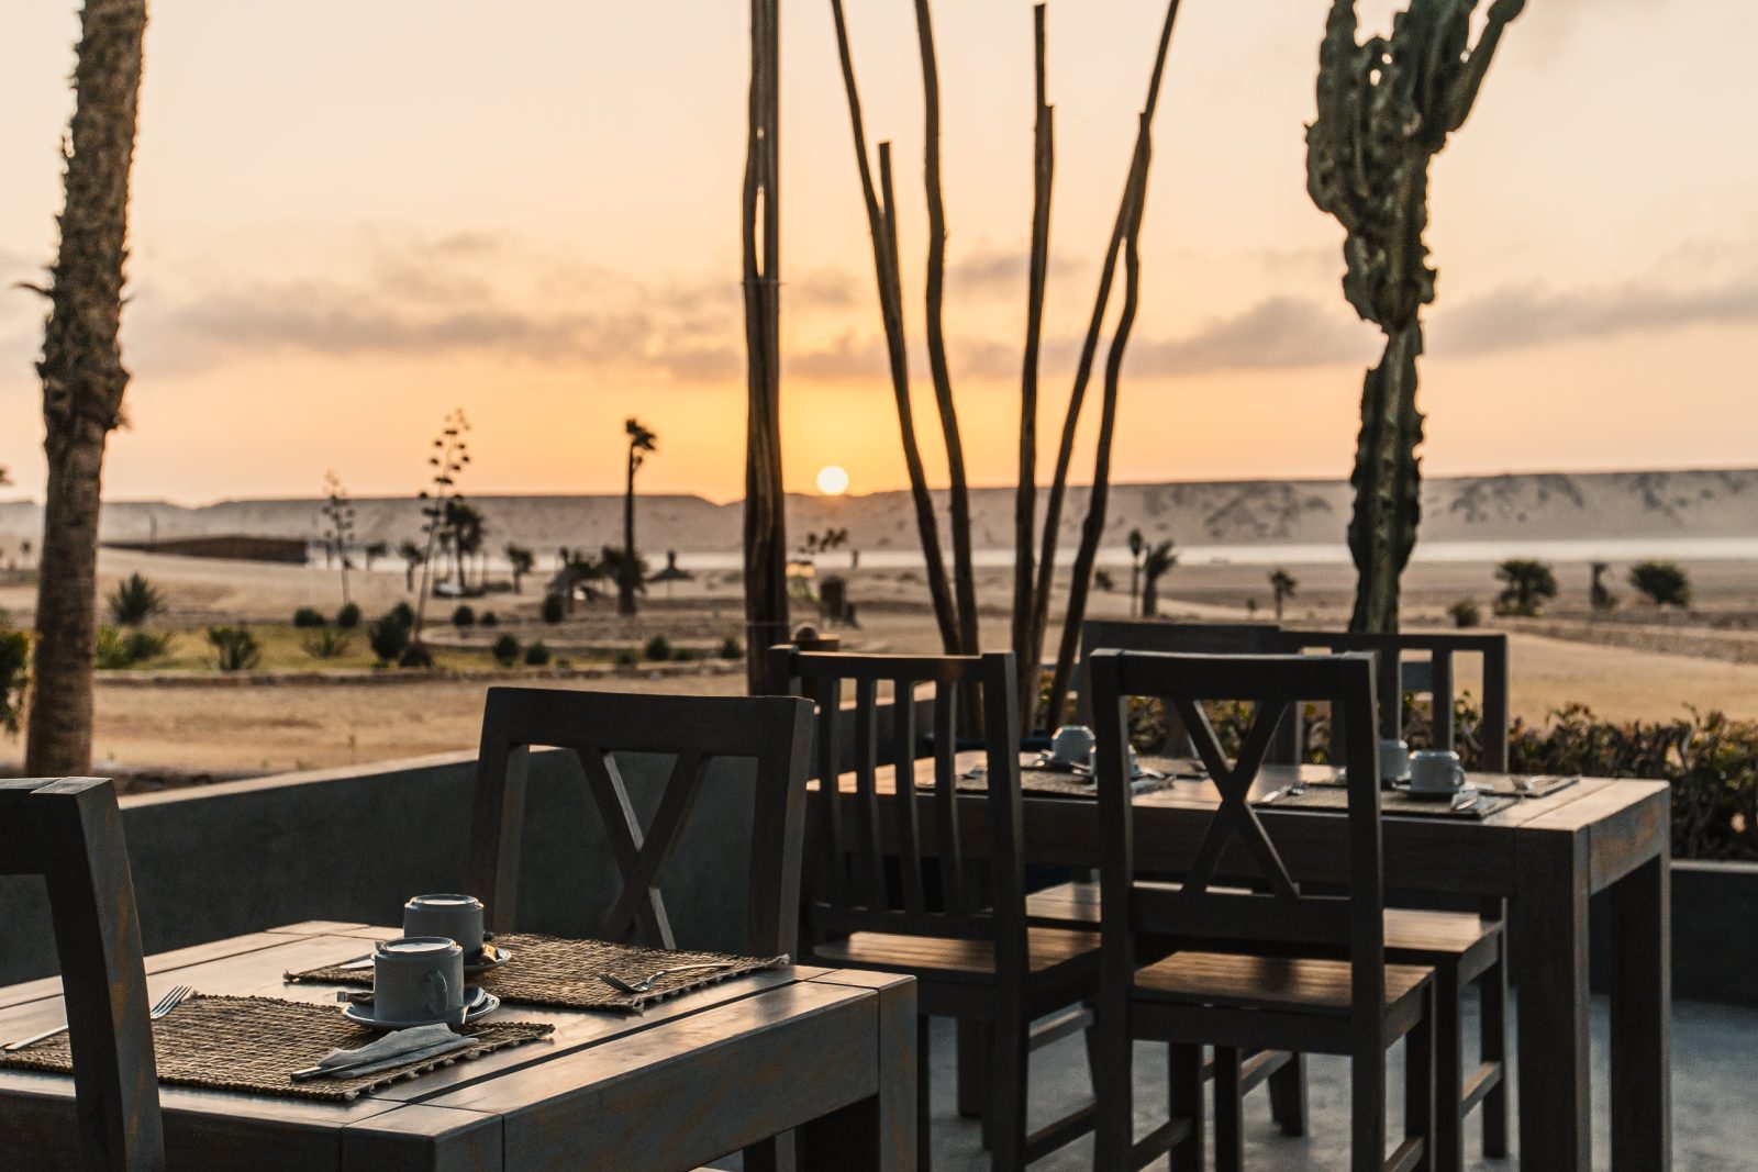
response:
{"label": "straight, nearly vertical pole in the middle of the fanned stick cluster", "polygon": [[1044,283],[1050,271],[1050,195],[1057,170],[1053,109],[1046,100],[1044,5],[1032,7],[1037,118],[1032,130],[1032,258],[1025,293],[1025,367],[1020,373],[1020,480],[1013,531],[1013,654],[1020,668],[1020,727],[1037,717],[1034,631],[1034,539],[1037,536],[1037,369],[1044,334]]}

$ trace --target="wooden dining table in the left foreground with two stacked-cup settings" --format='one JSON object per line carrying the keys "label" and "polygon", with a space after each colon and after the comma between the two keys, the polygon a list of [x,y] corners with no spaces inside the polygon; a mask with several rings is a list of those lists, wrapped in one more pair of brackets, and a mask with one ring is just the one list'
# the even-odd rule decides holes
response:
{"label": "wooden dining table in the left foreground with two stacked-cup settings", "polygon": [[[283,973],[397,935],[346,922],[274,928],[149,956],[148,986],[153,996],[188,984],[334,1003],[343,986],[285,984]],[[809,1168],[914,1167],[916,991],[905,977],[795,965],[643,1014],[499,1016],[556,1031],[353,1102],[162,1086],[169,1167],[680,1172],[788,1130]],[[58,1021],[56,979],[0,989],[0,1038]],[[72,1093],[67,1075],[0,1070],[0,1167],[76,1167]]]}

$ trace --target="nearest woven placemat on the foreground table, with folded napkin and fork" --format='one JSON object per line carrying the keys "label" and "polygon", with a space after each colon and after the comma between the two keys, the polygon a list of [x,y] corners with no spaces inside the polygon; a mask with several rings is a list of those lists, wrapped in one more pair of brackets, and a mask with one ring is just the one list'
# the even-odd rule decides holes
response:
{"label": "nearest woven placemat on the foreground table, with folded napkin and fork", "polygon": [[[153,1023],[153,1056],[158,1081],[174,1086],[348,1102],[436,1067],[536,1042],[554,1030],[556,1026],[534,1021],[476,1023],[459,1028],[459,1033],[476,1038],[476,1045],[468,1049],[357,1079],[294,1082],[294,1070],[316,1065],[332,1049],[366,1045],[381,1037],[381,1031],[353,1024],[341,1016],[339,1005],[197,993]],[[62,1033],[30,1049],[0,1053],[0,1067],[72,1074],[74,1056]]]}

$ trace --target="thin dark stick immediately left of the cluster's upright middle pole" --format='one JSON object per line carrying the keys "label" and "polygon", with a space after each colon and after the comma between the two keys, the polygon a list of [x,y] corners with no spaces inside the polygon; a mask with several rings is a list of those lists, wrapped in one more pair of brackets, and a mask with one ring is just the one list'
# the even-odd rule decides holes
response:
{"label": "thin dark stick immediately left of the cluster's upright middle pole", "polygon": [[965,446],[958,436],[953,376],[946,362],[946,199],[941,190],[941,67],[933,56],[933,18],[928,0],[916,0],[916,44],[921,49],[923,186],[928,197],[928,373],[933,404],[946,439],[946,481],[951,504],[953,589],[958,594],[958,638],[967,655],[981,650],[977,636],[977,585],[970,552],[970,487],[965,478]]}

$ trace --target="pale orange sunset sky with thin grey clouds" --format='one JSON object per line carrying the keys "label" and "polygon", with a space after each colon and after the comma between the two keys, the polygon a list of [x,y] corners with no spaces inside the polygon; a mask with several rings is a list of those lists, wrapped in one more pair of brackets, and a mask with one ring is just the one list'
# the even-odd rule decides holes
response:
{"label": "pale orange sunset sky with thin grey clouds", "polygon": [[[897,142],[923,423],[921,79],[905,0],[847,0]],[[1326,0],[1185,0],[1155,134],[1118,480],[1347,476],[1378,334],[1304,190]],[[1389,2],[1364,0],[1380,23]],[[1129,162],[1160,0],[1053,0],[1046,427]],[[1030,218],[1028,0],[935,5],[948,334],[974,483],[1009,483]],[[731,499],[744,459],[742,0],[155,0],[107,494],[418,487]],[[788,487],[902,481],[828,0],[782,0]],[[0,464],[40,497],[40,300],[74,0],[0,5]],[[1435,169],[1431,474],[1758,464],[1758,7],[1531,0]],[[937,436],[923,436],[930,469]]]}

